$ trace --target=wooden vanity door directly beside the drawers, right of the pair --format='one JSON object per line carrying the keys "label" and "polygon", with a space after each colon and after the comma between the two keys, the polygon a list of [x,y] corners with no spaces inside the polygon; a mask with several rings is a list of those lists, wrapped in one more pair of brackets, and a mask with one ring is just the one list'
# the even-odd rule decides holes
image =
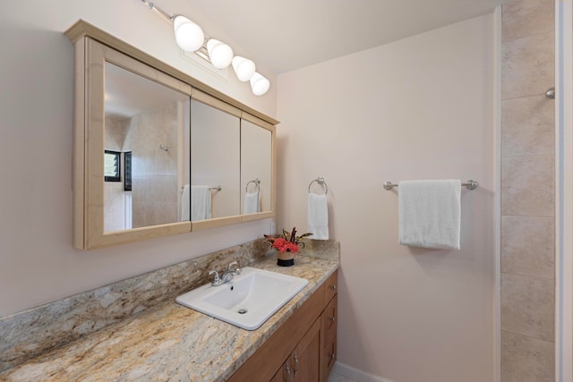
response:
{"label": "wooden vanity door directly beside the drawers, right of the pair", "polygon": [[318,382],[321,376],[321,319],[317,318],[291,354],[294,381]]}

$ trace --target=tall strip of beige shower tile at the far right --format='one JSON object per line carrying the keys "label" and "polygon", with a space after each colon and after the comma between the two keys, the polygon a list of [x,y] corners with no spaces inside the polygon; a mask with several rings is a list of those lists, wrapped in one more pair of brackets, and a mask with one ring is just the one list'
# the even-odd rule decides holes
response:
{"label": "tall strip of beige shower tile at the far right", "polygon": [[501,14],[501,381],[553,381],[554,0]]}

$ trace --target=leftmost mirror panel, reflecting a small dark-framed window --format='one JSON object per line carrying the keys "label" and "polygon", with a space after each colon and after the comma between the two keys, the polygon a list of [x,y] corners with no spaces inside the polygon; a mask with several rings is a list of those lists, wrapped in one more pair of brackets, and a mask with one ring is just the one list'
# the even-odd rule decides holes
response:
{"label": "leftmost mirror panel, reflecting a small dark-framed window", "polygon": [[182,220],[189,108],[188,95],[105,64],[104,232]]}

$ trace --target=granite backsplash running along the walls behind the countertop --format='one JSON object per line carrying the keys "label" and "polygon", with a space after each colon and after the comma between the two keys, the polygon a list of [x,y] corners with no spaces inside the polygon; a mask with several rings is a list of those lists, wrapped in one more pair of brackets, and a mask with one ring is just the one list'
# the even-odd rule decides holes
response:
{"label": "granite backsplash running along the walls behind the countertop", "polygon": [[[338,260],[338,242],[304,242],[302,255]],[[246,242],[0,318],[0,372],[207,284],[211,269],[232,261],[247,267],[271,256],[275,251],[263,239]]]}

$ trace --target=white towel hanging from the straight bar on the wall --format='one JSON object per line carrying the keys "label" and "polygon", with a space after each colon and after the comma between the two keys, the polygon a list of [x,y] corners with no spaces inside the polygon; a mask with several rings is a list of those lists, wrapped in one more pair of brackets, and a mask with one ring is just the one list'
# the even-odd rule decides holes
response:
{"label": "white towel hanging from the straight bar on the wall", "polygon": [[398,183],[400,244],[459,250],[460,190],[459,180]]}

